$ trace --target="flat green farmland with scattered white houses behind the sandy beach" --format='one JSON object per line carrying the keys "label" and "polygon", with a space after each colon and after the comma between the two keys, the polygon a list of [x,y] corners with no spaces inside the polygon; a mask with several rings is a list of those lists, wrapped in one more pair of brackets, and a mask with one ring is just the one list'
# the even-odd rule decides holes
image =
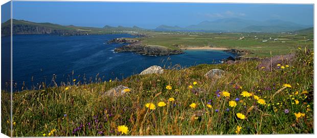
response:
{"label": "flat green farmland with scattered white houses behind the sandy beach", "polygon": [[[248,56],[268,57],[281,55],[308,45],[313,48],[313,28],[289,33],[197,33],[197,32],[144,32],[152,37],[138,38],[144,44],[162,45],[170,49],[214,47],[250,50]],[[240,37],[244,37],[239,40]],[[271,38],[271,39],[270,39]],[[274,40],[278,39],[278,40]],[[307,39],[309,39],[307,41]],[[267,42],[262,42],[267,40]]]}

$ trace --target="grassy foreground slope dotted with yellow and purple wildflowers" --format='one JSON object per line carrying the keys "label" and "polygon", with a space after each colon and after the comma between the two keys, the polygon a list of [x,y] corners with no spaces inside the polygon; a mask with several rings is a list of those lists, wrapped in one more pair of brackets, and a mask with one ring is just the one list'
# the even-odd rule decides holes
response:
{"label": "grassy foreground slope dotted with yellow and purple wildflowers", "polygon": [[[297,55],[295,61],[283,65],[284,69],[272,72],[257,69],[258,61],[201,64],[165,70],[161,75],[135,75],[122,81],[88,85],[75,82],[69,86],[22,91],[13,94],[13,134],[313,133],[313,53],[303,49]],[[226,73],[217,81],[203,77],[213,68]],[[104,95],[120,84],[128,86],[130,91],[117,98]],[[243,97],[242,91],[253,95]],[[159,102],[166,105],[159,107]],[[147,108],[147,103],[153,103],[155,109]],[[6,102],[3,104],[6,106]],[[120,125],[128,128],[127,133],[118,131]]]}

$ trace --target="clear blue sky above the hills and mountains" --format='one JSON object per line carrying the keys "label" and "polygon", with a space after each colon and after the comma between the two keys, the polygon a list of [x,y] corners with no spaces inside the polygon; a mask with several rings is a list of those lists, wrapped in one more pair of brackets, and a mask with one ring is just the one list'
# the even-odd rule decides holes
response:
{"label": "clear blue sky above the hills and mountains", "polygon": [[16,1],[13,18],[60,25],[135,25],[147,29],[160,25],[186,27],[220,18],[280,19],[312,25],[313,5]]}

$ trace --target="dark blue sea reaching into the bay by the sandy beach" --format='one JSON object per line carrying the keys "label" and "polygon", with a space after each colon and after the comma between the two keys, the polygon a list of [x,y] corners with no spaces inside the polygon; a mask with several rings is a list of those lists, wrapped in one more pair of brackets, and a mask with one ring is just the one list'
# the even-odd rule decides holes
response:
{"label": "dark blue sea reaching into the bay by the sandy beach", "polygon": [[[24,81],[25,88],[36,86],[40,82],[46,82],[47,85],[52,86],[54,74],[57,84],[69,82],[73,78],[88,83],[89,77],[93,77],[95,82],[98,73],[103,81],[122,79],[139,74],[151,65],[211,64],[219,63],[219,60],[232,56],[230,53],[214,50],[191,50],[185,51],[186,54],[157,57],[131,52],[115,53],[114,49],[124,44],[107,44],[107,41],[118,37],[134,36],[129,34],[14,35],[13,80],[15,87],[19,90]],[[86,80],[83,80],[83,76]]]}

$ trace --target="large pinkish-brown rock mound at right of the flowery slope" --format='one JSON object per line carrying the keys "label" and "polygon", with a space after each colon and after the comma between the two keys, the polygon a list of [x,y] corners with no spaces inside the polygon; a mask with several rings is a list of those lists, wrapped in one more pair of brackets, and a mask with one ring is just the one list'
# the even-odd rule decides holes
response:
{"label": "large pinkish-brown rock mound at right of the flowery slope", "polygon": [[272,67],[277,69],[279,68],[277,64],[286,65],[289,62],[292,62],[293,60],[295,60],[295,58],[296,58],[295,54],[287,54],[287,55],[275,56],[272,58],[265,58],[261,61],[261,63],[257,66],[257,68],[263,68],[263,70],[265,71],[270,71],[271,62],[272,62]]}

